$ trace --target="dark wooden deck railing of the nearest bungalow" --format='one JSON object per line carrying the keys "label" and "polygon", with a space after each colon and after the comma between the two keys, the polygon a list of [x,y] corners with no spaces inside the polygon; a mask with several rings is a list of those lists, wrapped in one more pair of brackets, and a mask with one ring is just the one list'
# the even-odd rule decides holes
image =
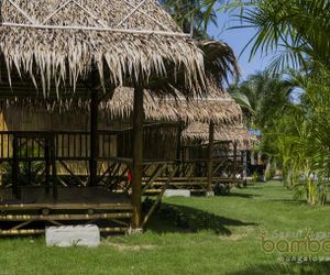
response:
{"label": "dark wooden deck railing of the nearest bungalow", "polygon": [[[100,158],[116,155],[117,131],[98,131]],[[18,142],[20,161],[43,161],[47,143],[54,141],[57,160],[87,161],[90,157],[90,133],[82,131],[0,131],[0,161],[13,158],[13,142]],[[112,146],[112,147],[111,147]],[[111,154],[112,153],[112,154]]]}

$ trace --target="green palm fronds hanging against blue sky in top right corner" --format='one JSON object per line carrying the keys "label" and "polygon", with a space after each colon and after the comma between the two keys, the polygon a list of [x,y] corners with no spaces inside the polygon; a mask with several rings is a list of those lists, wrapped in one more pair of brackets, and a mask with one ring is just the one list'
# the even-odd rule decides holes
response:
{"label": "green palm fronds hanging against blue sky in top right corner", "polygon": [[[219,0],[204,0],[208,8]],[[229,7],[244,7],[238,28],[254,28],[256,34],[248,42],[251,58],[276,52],[271,64],[274,70],[287,66],[305,67],[310,61],[330,69],[330,1],[329,0],[258,0],[228,1]],[[204,7],[205,7],[204,6]],[[205,9],[205,8],[204,8]],[[246,47],[248,47],[246,45]]]}

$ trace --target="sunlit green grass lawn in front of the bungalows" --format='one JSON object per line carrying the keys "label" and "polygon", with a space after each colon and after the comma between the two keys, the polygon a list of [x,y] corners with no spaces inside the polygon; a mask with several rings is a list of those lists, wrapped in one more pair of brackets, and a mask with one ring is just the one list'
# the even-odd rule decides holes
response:
{"label": "sunlit green grass lawn in front of the bungalows", "polygon": [[330,232],[330,206],[294,201],[278,182],[256,184],[227,197],[164,199],[144,234],[109,237],[98,249],[46,248],[43,238],[2,239],[0,275],[330,274],[330,262],[280,263],[276,252],[263,251],[264,232],[276,238],[299,230]]}

